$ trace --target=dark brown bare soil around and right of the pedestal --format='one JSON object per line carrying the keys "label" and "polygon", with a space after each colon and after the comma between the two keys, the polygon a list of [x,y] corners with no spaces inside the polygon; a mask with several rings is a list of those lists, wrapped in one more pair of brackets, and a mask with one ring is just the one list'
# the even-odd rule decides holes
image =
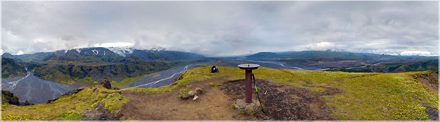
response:
{"label": "dark brown bare soil around and right of the pedestal", "polygon": [[[341,93],[338,89],[327,88],[328,92],[316,94],[304,88],[282,83],[263,80],[257,80],[257,83],[265,111],[254,115],[258,120],[332,120],[330,115],[325,113],[325,102],[320,97]],[[244,98],[244,88],[244,80],[223,83],[220,87],[230,96],[230,104]],[[255,90],[252,99],[258,100]]]}

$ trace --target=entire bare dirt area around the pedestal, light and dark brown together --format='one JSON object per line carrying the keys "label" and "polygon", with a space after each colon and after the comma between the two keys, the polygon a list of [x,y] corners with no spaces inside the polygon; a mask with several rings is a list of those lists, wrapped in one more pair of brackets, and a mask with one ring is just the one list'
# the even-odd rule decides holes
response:
{"label": "entire bare dirt area around the pedestal, light and dark brown together", "polygon": [[[222,86],[208,83],[221,83]],[[231,104],[244,98],[244,81],[216,79],[189,84],[192,87],[188,91],[197,87],[203,90],[197,101],[180,100],[180,88],[158,95],[124,91],[123,95],[132,98],[132,102],[117,116],[134,120],[332,120],[324,112],[325,102],[320,96],[339,94],[337,89],[328,88],[329,92],[316,94],[276,82],[257,80],[257,83],[265,114],[239,114]],[[258,100],[255,91],[252,97]]]}

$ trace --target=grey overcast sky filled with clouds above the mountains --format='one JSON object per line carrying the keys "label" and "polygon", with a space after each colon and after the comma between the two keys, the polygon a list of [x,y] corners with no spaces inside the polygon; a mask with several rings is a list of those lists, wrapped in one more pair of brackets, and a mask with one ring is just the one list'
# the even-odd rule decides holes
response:
{"label": "grey overcast sky filled with clouds above the mountains", "polygon": [[133,46],[205,56],[439,55],[438,1],[2,1],[1,53]]}

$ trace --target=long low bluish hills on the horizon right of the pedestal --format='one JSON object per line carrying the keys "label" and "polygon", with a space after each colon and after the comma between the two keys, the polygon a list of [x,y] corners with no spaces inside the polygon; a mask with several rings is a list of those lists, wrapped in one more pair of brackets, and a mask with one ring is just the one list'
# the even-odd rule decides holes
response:
{"label": "long low bluish hills on the horizon right of the pedestal", "polygon": [[[370,65],[377,62],[393,61],[415,62],[425,60],[438,60],[438,57],[423,56],[392,56],[379,55],[371,53],[352,53],[352,52],[335,52],[335,51],[299,51],[299,52],[260,52],[254,55],[246,56],[246,58],[264,59],[270,61],[280,61],[290,64],[300,64],[307,67],[316,68],[335,68],[335,67],[353,67]],[[413,59],[413,60],[407,60]]]}

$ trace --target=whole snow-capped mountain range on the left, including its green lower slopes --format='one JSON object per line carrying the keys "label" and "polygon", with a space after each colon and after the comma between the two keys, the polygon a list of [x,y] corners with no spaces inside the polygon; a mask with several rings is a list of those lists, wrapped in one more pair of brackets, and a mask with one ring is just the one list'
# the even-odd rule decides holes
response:
{"label": "whole snow-capped mountain range on the left, including its green lower slopes", "polygon": [[[21,70],[27,67],[43,80],[67,84],[83,82],[87,85],[104,79],[121,81],[188,63],[209,61],[198,54],[178,51],[110,49],[91,47],[24,55],[4,53],[2,75],[21,76]],[[3,75],[3,78],[9,76]]]}

